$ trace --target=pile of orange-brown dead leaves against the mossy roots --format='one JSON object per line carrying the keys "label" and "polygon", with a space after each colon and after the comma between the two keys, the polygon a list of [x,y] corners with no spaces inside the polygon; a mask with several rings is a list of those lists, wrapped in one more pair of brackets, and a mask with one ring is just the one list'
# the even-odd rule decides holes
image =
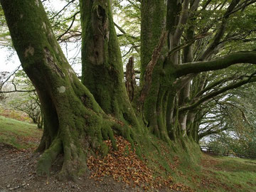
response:
{"label": "pile of orange-brown dead leaves against the mossy roots", "polygon": [[[91,171],[90,178],[101,180],[102,176],[112,176],[117,182],[127,183],[129,186],[139,186],[145,191],[152,188],[171,188],[173,178],[164,179],[161,176],[154,177],[153,171],[145,162],[137,157],[132,145],[123,137],[115,137],[117,151],[112,149],[110,140],[105,141],[110,148],[107,156],[90,156],[87,159],[87,166]],[[178,186],[180,188],[180,186]]]}

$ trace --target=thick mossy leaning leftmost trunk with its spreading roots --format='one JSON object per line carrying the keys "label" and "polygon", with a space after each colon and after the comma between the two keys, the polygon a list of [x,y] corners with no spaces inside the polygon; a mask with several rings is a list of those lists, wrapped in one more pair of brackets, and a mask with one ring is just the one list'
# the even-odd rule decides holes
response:
{"label": "thick mossy leaning leftmost trunk with its spreading roots", "polygon": [[[1,5],[23,70],[41,100],[45,123],[38,151],[44,152],[38,162],[38,175],[48,175],[56,156],[63,153],[60,176],[75,178],[78,173],[86,171],[88,147],[107,154],[107,146],[102,140],[110,138],[115,148],[112,128],[132,142],[130,128],[125,124],[121,126],[114,117],[105,114],[76,77],[53,35],[41,1],[1,0]],[[100,6],[97,6],[97,11],[100,11]],[[114,75],[118,83],[122,81],[122,75]],[[118,85],[117,82],[114,85]],[[117,89],[124,92],[120,87]],[[126,102],[125,98],[122,99]],[[125,111],[122,110],[124,117]],[[131,110],[128,109],[127,114]],[[133,122],[133,119],[126,120]]]}

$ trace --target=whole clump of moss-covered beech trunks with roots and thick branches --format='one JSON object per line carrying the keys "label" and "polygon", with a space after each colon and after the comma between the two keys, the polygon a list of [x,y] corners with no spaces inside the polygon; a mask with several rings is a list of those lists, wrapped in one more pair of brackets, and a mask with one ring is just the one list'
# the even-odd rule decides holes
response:
{"label": "whole clump of moss-covered beech trunks with roots and thick branches", "polygon": [[[75,178],[87,170],[89,147],[105,155],[103,140],[111,139],[117,149],[114,134],[131,142],[137,152],[150,134],[166,144],[197,142],[198,107],[256,80],[251,74],[229,85],[209,84],[203,73],[256,63],[255,50],[216,56],[236,37],[235,31],[227,33],[230,16],[254,1],[132,1],[141,11],[141,78],[137,86],[131,70],[127,87],[136,91],[129,95],[110,0],[80,0],[82,81],[63,55],[41,1],[0,2],[23,70],[41,101],[45,127],[38,146],[43,152],[38,175],[49,174],[53,161],[63,154],[60,176]],[[220,15],[210,15],[209,25],[198,30],[195,22],[201,13],[216,10]],[[220,83],[226,86],[205,94]]]}

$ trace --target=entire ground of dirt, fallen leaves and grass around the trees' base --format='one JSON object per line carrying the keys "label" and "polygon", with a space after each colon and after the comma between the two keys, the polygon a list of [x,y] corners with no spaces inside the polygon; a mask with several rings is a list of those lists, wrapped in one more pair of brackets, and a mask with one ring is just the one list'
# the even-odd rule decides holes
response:
{"label": "entire ground of dirt, fallen leaves and grass around the trees' base", "polygon": [[[62,156],[55,161],[49,178],[38,178],[36,163],[40,154],[34,151],[41,133],[36,125],[0,116],[0,192],[256,191],[256,160],[201,154],[199,164],[192,166],[182,156],[175,155],[169,161],[164,156],[169,148],[162,146],[161,156],[166,157],[163,167],[154,159],[139,159],[122,137],[116,137],[118,151],[110,150],[103,159],[90,156],[90,174],[81,176],[77,183],[58,181]],[[111,145],[110,141],[105,142]],[[151,157],[154,153],[159,156],[157,151],[151,153]],[[168,167],[170,171],[166,170]]]}

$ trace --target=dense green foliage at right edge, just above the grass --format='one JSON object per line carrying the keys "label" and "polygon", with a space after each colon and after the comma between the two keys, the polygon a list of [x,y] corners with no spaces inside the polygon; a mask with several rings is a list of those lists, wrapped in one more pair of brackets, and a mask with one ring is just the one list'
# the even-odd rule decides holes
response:
{"label": "dense green foliage at right edge, just above the grass", "polygon": [[[223,101],[227,130],[210,137],[209,145],[217,152],[233,151],[241,156],[256,157],[255,85],[230,92]],[[231,95],[232,94],[232,95]]]}

